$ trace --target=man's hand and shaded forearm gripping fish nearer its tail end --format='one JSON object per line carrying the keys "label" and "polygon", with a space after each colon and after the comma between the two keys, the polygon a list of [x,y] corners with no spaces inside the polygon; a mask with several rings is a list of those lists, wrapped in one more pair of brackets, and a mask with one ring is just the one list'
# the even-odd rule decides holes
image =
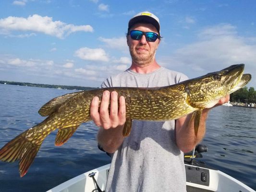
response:
{"label": "man's hand and shaded forearm gripping fish nearer its tail end", "polygon": [[[110,112],[109,112],[110,105]],[[98,143],[108,153],[115,152],[123,142],[122,130],[125,123],[125,99],[119,98],[117,92],[104,91],[100,108],[99,98],[94,97],[91,102],[90,115],[95,124],[100,127],[98,131]]]}

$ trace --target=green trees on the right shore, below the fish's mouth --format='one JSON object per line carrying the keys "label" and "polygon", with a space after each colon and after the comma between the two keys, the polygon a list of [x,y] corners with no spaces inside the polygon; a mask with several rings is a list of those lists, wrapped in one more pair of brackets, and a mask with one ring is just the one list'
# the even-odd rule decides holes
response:
{"label": "green trees on the right shore, below the fish's mouth", "polygon": [[245,86],[230,95],[231,102],[256,103],[256,91]]}

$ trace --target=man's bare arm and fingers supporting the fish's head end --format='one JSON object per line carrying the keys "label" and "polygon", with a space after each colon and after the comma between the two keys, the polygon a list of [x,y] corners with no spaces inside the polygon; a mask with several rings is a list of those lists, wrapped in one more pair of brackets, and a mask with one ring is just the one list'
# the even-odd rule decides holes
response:
{"label": "man's bare arm and fingers supporting the fish's head end", "polygon": [[[216,104],[215,107],[228,102],[229,99],[230,99],[229,95],[221,98],[219,100],[219,103]],[[176,125],[175,125],[176,144],[179,147],[179,149],[182,150],[184,153],[193,150],[196,144],[198,144],[204,138],[204,135],[206,132],[207,115],[210,109],[211,108],[203,109],[196,136],[194,131],[194,120],[191,120],[192,114],[189,114],[185,117],[182,117],[176,120]]]}

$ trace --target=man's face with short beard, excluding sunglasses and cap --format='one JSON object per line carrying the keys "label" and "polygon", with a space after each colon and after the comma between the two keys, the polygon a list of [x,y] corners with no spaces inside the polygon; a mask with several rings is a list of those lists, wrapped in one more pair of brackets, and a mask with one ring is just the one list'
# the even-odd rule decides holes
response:
{"label": "man's face with short beard, excluding sunglasses and cap", "polygon": [[[134,24],[131,30],[155,32],[158,34],[158,30],[152,24]],[[130,35],[127,36],[127,45],[129,46],[132,60],[138,66],[147,66],[155,60],[155,53],[159,43],[159,39],[155,42],[147,42],[145,35],[140,40],[134,40]]]}

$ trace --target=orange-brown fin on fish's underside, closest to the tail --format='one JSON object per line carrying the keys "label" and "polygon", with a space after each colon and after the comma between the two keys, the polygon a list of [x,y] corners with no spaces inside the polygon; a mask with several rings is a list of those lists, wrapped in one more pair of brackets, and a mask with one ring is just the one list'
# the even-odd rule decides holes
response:
{"label": "orange-brown fin on fish's underside, closest to the tail", "polygon": [[61,146],[66,143],[78,127],[79,125],[60,128],[55,138],[55,145]]}

